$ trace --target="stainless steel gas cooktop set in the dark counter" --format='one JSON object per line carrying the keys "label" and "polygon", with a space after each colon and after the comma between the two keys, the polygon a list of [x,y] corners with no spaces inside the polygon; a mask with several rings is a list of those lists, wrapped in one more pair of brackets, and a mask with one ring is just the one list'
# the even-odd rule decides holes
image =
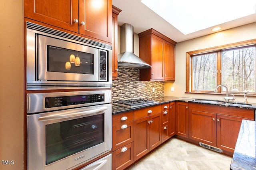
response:
{"label": "stainless steel gas cooktop set in the dark counter", "polygon": [[128,99],[128,100],[122,100],[122,101],[113,101],[114,105],[119,105],[123,107],[133,108],[133,107],[139,107],[144,105],[153,104],[153,100],[149,99]]}

